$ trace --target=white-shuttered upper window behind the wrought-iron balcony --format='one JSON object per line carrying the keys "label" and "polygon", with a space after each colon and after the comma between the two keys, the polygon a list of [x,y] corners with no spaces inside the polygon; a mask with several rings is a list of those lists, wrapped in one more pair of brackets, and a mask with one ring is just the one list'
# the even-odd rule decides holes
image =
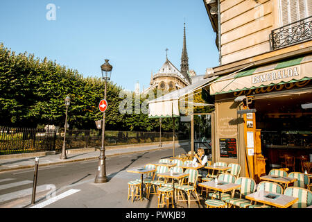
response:
{"label": "white-shuttered upper window behind the wrought-iron balcony", "polygon": [[286,26],[312,15],[311,0],[279,0],[279,24]]}

